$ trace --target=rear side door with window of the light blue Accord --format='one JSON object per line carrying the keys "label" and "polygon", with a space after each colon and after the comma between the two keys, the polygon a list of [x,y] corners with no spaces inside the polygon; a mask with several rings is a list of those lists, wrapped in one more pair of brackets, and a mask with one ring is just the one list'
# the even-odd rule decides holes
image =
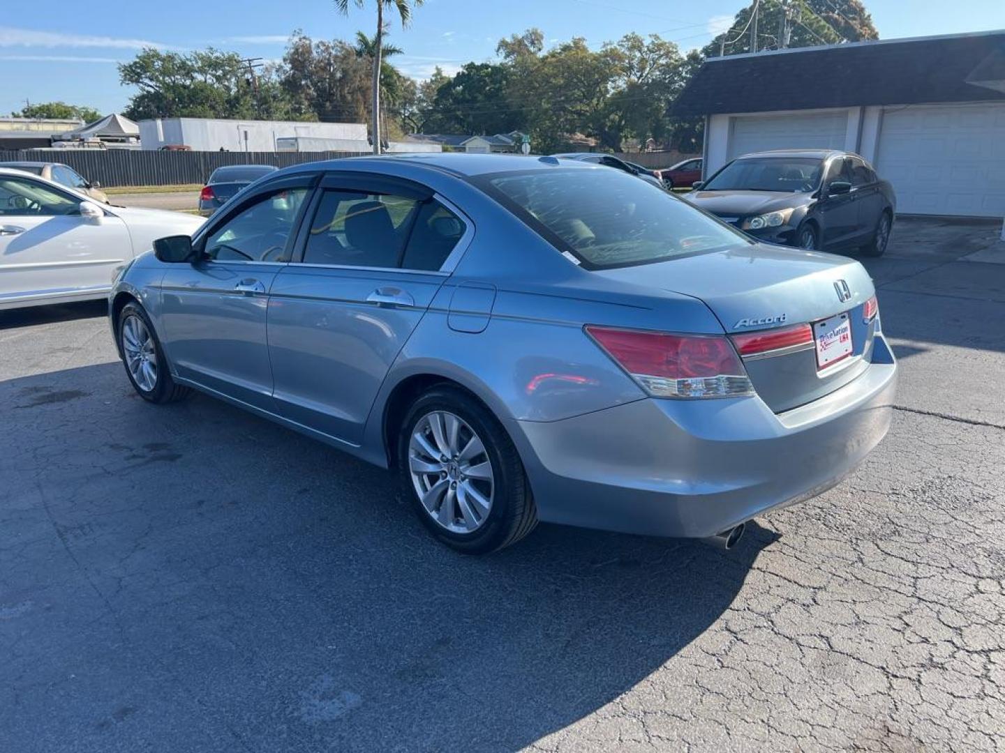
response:
{"label": "rear side door with window of the light blue Accord", "polygon": [[384,378],[473,229],[425,187],[364,174],[328,176],[308,216],[269,298],[275,405],[359,444]]}

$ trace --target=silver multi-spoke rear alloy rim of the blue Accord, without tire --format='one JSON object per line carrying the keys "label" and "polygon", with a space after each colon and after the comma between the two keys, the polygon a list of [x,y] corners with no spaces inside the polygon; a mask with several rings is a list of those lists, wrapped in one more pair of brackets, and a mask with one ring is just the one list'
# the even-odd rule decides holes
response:
{"label": "silver multi-spoke rear alloy rim of the blue Accord, without tire", "polygon": [[451,533],[473,533],[488,518],[494,479],[485,447],[460,417],[433,411],[408,444],[412,486],[426,513]]}

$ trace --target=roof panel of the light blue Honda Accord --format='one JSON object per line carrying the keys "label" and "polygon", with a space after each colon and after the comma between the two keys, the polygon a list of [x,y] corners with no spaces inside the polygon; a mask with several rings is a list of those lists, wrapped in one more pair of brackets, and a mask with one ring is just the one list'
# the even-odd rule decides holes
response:
{"label": "roof panel of the light blue Honda Accord", "polygon": [[390,161],[403,163],[420,169],[446,173],[459,177],[472,177],[488,173],[516,173],[529,170],[554,170],[556,166],[575,167],[582,170],[595,169],[579,160],[552,157],[525,157],[524,155],[475,155],[448,152],[426,152],[417,154],[391,154],[381,157],[342,157],[336,160],[300,163],[283,168],[282,175],[293,175],[309,170],[351,170],[372,169],[379,173]]}

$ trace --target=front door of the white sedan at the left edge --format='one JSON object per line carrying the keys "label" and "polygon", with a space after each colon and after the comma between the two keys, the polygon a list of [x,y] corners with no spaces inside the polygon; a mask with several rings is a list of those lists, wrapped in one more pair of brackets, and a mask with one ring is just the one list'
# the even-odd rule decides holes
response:
{"label": "front door of the white sedan at the left edge", "polygon": [[125,223],[80,216],[80,199],[27,176],[0,175],[0,306],[100,296],[133,258]]}

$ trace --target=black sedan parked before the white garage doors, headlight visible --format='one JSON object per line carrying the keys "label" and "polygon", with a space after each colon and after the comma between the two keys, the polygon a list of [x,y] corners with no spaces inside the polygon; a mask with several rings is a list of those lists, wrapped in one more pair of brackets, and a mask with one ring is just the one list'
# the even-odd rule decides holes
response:
{"label": "black sedan parked before the white garage doors, headlight visible", "polygon": [[816,250],[886,250],[896,198],[858,155],[787,150],[744,155],[696,183],[687,201],[758,240]]}

